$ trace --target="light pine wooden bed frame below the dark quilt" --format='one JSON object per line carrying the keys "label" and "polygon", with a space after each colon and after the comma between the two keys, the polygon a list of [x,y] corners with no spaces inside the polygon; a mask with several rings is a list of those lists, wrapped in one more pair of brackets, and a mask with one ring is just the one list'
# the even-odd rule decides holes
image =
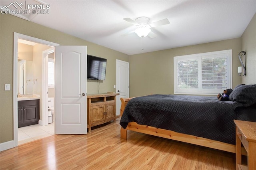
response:
{"label": "light pine wooden bed frame below the dark quilt", "polygon": [[[121,109],[120,109],[120,115],[122,117],[122,114],[124,112],[124,108],[126,107],[127,103],[134,97],[130,98],[120,98],[121,100]],[[189,134],[182,134],[178,132],[174,132],[172,130],[166,130],[166,129],[161,129],[161,128],[156,128],[156,127],[150,127],[147,125],[139,125],[136,122],[130,122],[128,123],[128,126],[126,129],[121,127],[120,133],[121,133],[121,138],[127,140],[127,130],[132,130],[144,134],[150,134],[153,136],[159,136],[163,138],[168,138],[172,140],[178,140],[181,142],[187,142],[190,144],[196,144],[200,146],[205,146],[208,148],[214,148],[218,150],[224,150],[227,152],[232,152],[236,153],[236,145],[233,144],[228,144],[216,140],[211,140],[207,138],[202,138],[202,137],[197,137]],[[246,155],[246,152],[244,151],[243,154]]]}

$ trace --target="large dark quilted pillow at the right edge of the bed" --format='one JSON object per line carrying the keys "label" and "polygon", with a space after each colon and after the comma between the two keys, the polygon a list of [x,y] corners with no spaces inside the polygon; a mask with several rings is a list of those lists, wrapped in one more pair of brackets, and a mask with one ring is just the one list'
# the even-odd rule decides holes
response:
{"label": "large dark quilted pillow at the right edge of the bed", "polygon": [[245,107],[256,103],[256,84],[238,85],[228,97],[229,100],[242,103]]}

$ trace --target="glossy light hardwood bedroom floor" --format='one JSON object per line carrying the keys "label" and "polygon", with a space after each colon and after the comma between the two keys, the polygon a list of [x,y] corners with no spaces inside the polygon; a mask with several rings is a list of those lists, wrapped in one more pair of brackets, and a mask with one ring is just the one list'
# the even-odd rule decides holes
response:
{"label": "glossy light hardwood bedroom floor", "polygon": [[53,135],[0,152],[0,169],[234,170],[235,154],[106,123],[86,135]]}

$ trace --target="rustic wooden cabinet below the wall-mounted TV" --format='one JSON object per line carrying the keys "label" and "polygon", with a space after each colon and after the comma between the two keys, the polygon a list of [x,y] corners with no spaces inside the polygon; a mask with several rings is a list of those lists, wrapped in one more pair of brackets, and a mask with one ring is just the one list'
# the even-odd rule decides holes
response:
{"label": "rustic wooden cabinet below the wall-mounted TV", "polygon": [[114,120],[116,122],[116,96],[119,93],[87,95],[87,128]]}

